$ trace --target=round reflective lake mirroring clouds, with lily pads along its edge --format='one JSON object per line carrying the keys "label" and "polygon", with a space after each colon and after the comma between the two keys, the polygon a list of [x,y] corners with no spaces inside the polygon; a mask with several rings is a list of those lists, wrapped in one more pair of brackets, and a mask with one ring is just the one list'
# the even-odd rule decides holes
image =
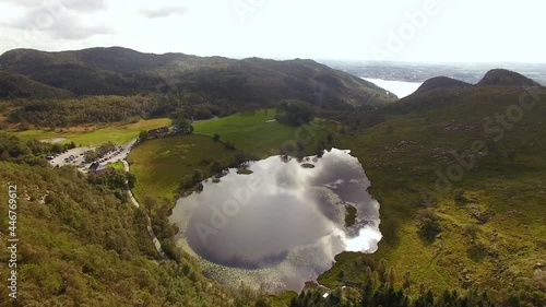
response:
{"label": "round reflective lake mirroring clouds, with lily pads along its edge", "polygon": [[[210,278],[300,291],[337,253],[377,250],[379,203],[349,151],[300,161],[271,156],[248,168],[252,174],[230,169],[217,184],[205,181],[201,193],[179,199],[173,210],[177,244]],[[347,225],[352,208],[356,220]]]}

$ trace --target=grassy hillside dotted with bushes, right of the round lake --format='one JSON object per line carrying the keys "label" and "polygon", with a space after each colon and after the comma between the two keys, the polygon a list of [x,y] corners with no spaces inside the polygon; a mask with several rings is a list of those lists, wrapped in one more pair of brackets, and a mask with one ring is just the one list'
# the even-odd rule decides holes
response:
{"label": "grassy hillside dotted with bushes, right of the round lake", "polygon": [[342,146],[381,203],[383,239],[375,255],[339,256],[320,282],[364,283],[357,272],[384,261],[412,292],[423,283],[487,291],[499,306],[544,306],[545,102],[541,87],[422,93],[346,135]]}

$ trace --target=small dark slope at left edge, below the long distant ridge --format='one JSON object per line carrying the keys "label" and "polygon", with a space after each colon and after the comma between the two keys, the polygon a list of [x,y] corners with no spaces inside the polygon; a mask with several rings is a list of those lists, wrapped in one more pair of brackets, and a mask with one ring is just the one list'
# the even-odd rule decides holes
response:
{"label": "small dark slope at left edge, below the long distant ridge", "polygon": [[45,85],[19,73],[0,70],[0,98],[64,98],[72,93]]}

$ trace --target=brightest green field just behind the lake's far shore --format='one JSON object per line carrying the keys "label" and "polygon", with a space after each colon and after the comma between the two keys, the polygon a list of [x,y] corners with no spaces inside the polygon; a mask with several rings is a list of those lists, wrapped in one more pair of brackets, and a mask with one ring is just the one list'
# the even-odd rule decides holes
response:
{"label": "brightest green field just behind the lake's far shore", "polygon": [[308,139],[306,154],[313,153],[318,141],[324,140],[328,132],[318,126],[304,128],[280,122],[266,122],[275,118],[275,110],[259,110],[252,115],[236,114],[233,116],[197,121],[195,133],[213,137],[218,133],[223,142],[232,142],[237,150],[266,157],[278,154],[283,145],[294,144],[298,139]]}

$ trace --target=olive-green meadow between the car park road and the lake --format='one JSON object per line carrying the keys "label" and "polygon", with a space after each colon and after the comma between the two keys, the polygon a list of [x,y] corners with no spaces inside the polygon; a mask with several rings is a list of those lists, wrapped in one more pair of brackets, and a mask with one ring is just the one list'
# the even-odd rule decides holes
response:
{"label": "olive-green meadow between the car park road and the lake", "polygon": [[178,135],[147,140],[136,145],[128,161],[131,173],[136,175],[135,197],[165,198],[173,201],[185,176],[201,169],[206,177],[212,176],[210,162],[230,162],[235,151],[211,138],[201,135]]}

